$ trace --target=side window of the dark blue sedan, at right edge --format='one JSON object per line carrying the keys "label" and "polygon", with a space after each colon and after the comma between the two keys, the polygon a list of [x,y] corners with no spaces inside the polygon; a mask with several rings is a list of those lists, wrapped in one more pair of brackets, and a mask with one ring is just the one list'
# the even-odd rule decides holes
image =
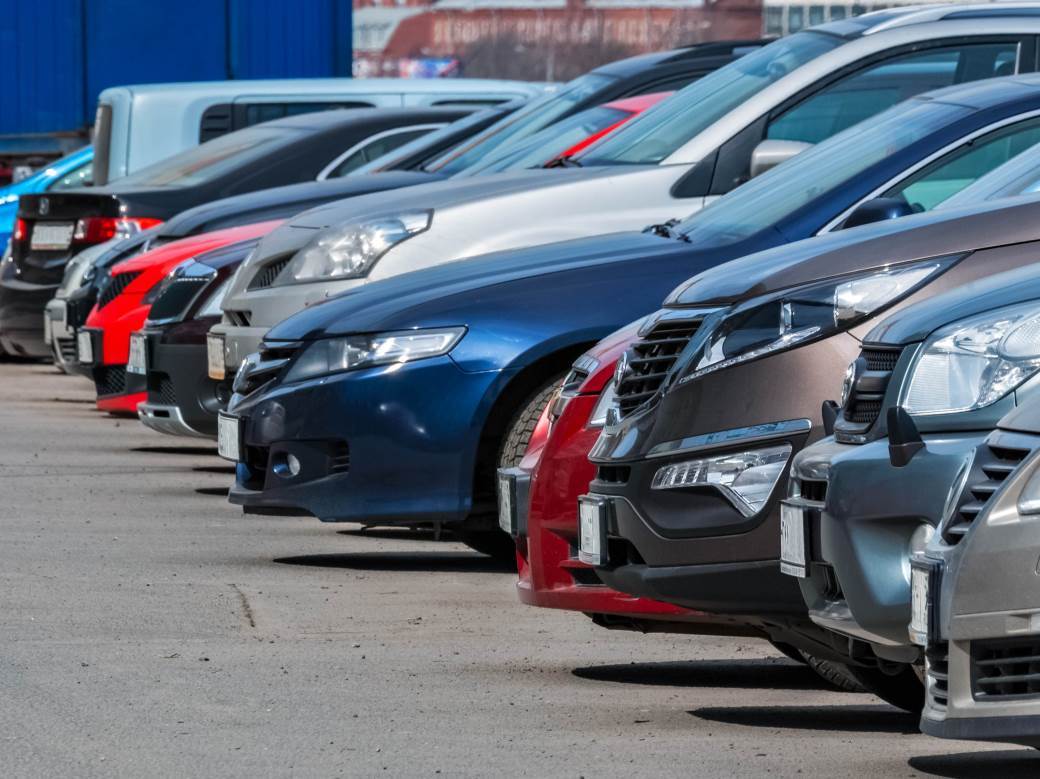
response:
{"label": "side window of the dark blue sedan, at right edge", "polygon": [[990,171],[1040,144],[1040,118],[1018,122],[965,144],[886,191],[929,211]]}

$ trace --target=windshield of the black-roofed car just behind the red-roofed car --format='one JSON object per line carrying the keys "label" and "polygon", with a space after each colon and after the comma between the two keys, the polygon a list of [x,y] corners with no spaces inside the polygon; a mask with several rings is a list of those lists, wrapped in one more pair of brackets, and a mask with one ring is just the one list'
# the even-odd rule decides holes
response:
{"label": "windshield of the black-roofed car just behind the red-roofed car", "polygon": [[475,138],[423,165],[423,170],[431,173],[456,174],[478,160],[490,160],[493,152],[500,154],[509,144],[548,127],[577,103],[588,100],[613,81],[609,76],[598,73],[578,76],[565,84],[560,92],[532,100],[516,113],[493,124]]}

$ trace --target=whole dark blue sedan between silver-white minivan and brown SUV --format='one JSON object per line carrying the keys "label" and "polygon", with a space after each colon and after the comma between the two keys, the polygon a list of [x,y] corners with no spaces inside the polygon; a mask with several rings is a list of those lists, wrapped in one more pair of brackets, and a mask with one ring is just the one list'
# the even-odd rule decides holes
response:
{"label": "whole dark blue sedan between silver-white minivan and brown SUV", "polygon": [[326,521],[450,523],[474,548],[504,549],[496,469],[519,461],[591,344],[706,268],[937,206],[1040,141],[1038,110],[1040,77],[942,89],[682,223],[448,263],[302,311],[236,376],[218,431],[238,462],[230,499]]}

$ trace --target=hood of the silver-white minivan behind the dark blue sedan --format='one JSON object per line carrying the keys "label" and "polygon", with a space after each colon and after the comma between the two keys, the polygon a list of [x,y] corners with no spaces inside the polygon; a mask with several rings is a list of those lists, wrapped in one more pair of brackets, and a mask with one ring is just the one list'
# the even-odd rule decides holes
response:
{"label": "hood of the silver-white minivan behind the dark blue sedan", "polygon": [[[643,167],[652,165],[536,168],[474,178],[445,179],[406,191],[380,192],[345,203],[330,203],[300,214],[290,226],[321,230],[353,218],[399,213],[402,210],[449,208],[532,189],[551,188],[553,194],[560,194],[566,192],[568,186],[580,185],[590,180],[600,181]],[[435,214],[435,224],[436,220]],[[483,228],[474,226],[474,229],[494,230],[495,225],[489,222]]]}

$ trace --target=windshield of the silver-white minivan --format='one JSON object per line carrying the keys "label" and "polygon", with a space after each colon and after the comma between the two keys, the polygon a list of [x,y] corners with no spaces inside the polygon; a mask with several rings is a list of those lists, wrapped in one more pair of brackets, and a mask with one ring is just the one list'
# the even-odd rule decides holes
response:
{"label": "windshield of the silver-white minivan", "polygon": [[749,98],[844,43],[798,32],[709,73],[582,155],[586,165],[656,164]]}

